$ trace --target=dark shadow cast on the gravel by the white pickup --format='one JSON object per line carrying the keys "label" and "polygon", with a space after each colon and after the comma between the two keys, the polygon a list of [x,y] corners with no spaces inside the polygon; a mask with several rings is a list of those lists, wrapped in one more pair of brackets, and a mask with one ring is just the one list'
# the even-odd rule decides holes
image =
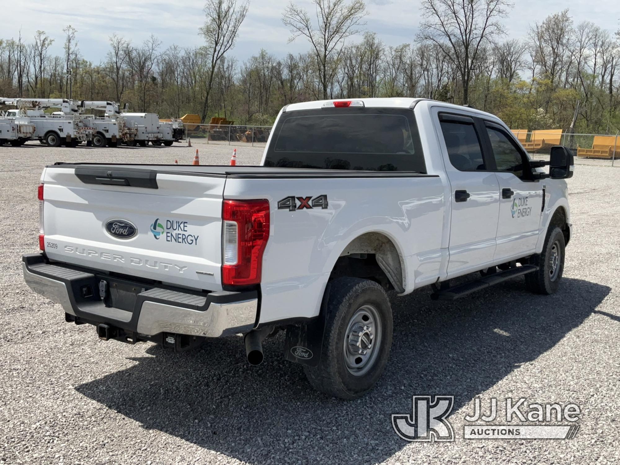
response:
{"label": "dark shadow cast on the gravel by the white pickup", "polygon": [[135,366],[76,389],[146,429],[247,463],[372,464],[407,445],[391,414],[410,412],[412,395],[454,395],[456,411],[554,347],[610,290],[564,278],[549,297],[528,293],[522,280],[447,304],[427,290],[393,296],[390,360],[359,401],[312,391],[301,366],[281,358],[281,335],[265,341],[259,367],[247,366],[240,337],[185,354],[151,345]]}

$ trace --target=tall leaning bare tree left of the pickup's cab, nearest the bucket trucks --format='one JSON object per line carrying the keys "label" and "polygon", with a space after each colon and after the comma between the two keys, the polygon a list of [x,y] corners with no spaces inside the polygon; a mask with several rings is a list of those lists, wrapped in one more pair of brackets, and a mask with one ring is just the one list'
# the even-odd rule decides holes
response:
{"label": "tall leaning bare tree left of the pickup's cab, nearest the bucket trucks", "polygon": [[213,89],[213,76],[219,60],[230,50],[239,34],[239,27],[246,19],[249,2],[237,8],[236,0],[207,0],[204,8],[206,20],[200,28],[200,35],[205,38],[204,54],[208,57],[209,68],[206,70],[205,99],[200,119],[205,122],[209,110],[209,96]]}

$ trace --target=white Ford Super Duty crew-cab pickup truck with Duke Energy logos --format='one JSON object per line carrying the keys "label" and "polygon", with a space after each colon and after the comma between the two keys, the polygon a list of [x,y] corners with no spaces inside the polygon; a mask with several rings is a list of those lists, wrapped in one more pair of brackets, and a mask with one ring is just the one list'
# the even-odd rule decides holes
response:
{"label": "white Ford Super Duty crew-cab pickup truck with Duke Energy logos", "polygon": [[47,166],[25,281],[103,340],[180,351],[243,334],[256,365],[284,329],[285,358],[312,386],[353,399],[387,363],[386,290],[451,300],[521,275],[558,289],[572,164],[561,146],[529,159],[473,108],[291,104],[262,166]]}

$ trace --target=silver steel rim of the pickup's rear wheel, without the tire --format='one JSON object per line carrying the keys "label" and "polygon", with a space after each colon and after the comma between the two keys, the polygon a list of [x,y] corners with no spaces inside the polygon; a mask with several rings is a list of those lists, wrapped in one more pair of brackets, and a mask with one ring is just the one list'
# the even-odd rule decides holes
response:
{"label": "silver steel rim of the pickup's rear wheel, without the tire", "polygon": [[374,365],[381,345],[381,319],[373,306],[360,307],[345,332],[343,355],[349,373],[362,376]]}

